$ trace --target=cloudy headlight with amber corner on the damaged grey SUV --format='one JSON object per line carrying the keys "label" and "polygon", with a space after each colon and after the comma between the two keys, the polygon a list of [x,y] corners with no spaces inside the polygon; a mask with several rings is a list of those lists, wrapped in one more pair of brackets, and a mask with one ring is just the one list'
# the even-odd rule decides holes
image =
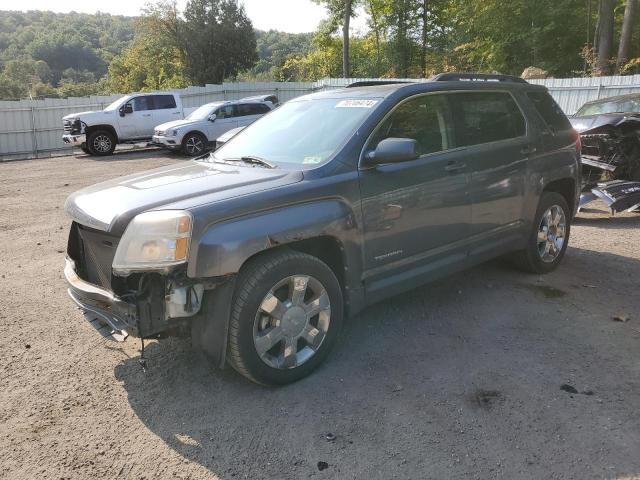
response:
{"label": "cloudy headlight with amber corner on the damaged grey SUV", "polygon": [[191,214],[180,210],[141,213],[124,232],[113,269],[145,270],[185,263],[192,224]]}

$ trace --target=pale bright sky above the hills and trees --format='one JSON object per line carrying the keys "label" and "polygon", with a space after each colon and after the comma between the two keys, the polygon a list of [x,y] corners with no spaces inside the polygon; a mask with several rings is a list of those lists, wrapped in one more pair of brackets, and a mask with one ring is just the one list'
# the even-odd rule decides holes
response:
{"label": "pale bright sky above the hills and trees", "polygon": [[[6,2],[6,3],[5,3]],[[300,33],[314,31],[320,21],[326,17],[323,7],[311,0],[240,0],[244,3],[247,15],[253,26],[260,30],[281,30],[284,32]],[[95,13],[101,11],[113,15],[135,16],[147,0],[20,0],[9,4],[6,0],[0,2],[0,10],[52,10],[66,13],[71,11]],[[184,7],[186,0],[178,0],[178,5]],[[5,4],[5,5],[3,5]],[[358,27],[358,20],[354,22]]]}

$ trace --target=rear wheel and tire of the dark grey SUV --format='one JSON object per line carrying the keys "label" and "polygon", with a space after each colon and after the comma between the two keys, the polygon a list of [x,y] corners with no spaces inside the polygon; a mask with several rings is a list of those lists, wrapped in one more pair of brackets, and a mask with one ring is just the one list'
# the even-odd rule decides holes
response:
{"label": "rear wheel and tire of the dark grey SUV", "polygon": [[[549,212],[551,217],[548,217]],[[558,218],[558,214],[562,217]],[[557,225],[555,225],[556,221]],[[559,235],[559,227],[562,227],[562,237]],[[552,272],[558,267],[567,251],[571,233],[571,211],[562,195],[555,192],[542,194],[531,230],[527,247],[514,255],[516,264],[530,273]],[[544,238],[546,240],[543,240]]]}

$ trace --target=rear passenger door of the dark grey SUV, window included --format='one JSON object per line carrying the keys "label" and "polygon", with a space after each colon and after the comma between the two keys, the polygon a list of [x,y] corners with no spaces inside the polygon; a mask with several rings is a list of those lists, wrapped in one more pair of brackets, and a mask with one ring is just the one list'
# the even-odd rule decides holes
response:
{"label": "rear passenger door of the dark grey SUV, window included", "polygon": [[471,255],[488,256],[522,233],[527,162],[536,153],[527,122],[507,91],[449,95],[456,144],[471,173]]}

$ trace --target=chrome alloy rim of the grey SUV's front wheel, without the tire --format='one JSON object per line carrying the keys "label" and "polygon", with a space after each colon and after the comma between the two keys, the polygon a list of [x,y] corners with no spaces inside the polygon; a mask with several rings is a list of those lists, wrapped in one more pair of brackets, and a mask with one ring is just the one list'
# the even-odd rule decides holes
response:
{"label": "chrome alloy rim of the grey SUV's front wheel, without the tire", "polygon": [[331,302],[324,286],[307,275],[276,283],[262,300],[253,325],[260,359],[272,368],[295,368],[313,357],[329,330]]}

